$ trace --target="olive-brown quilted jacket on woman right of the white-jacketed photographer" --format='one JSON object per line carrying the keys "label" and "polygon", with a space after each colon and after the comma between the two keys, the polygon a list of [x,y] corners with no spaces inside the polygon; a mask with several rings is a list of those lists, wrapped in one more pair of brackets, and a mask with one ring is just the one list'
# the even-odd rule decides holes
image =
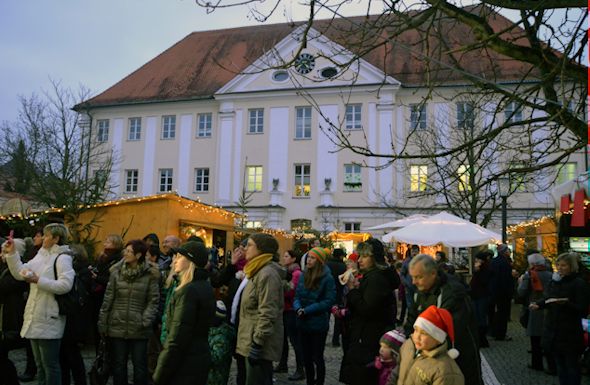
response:
{"label": "olive-brown quilted jacket on woman right of the white-jacketed photographer", "polygon": [[113,338],[147,339],[160,298],[158,267],[144,261],[142,273],[128,282],[121,275],[120,261],[111,276],[98,317],[98,331]]}

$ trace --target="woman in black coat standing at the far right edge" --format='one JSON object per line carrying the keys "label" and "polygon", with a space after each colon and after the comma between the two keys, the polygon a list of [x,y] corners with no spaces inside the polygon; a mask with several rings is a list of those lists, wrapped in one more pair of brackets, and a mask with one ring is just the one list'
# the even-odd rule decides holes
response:
{"label": "woman in black coat standing at the far right edge", "polygon": [[578,360],[584,350],[581,319],[588,311],[588,286],[578,275],[577,253],[557,257],[557,273],[549,286],[549,294],[532,302],[532,311],[547,309],[542,347],[555,358],[561,385],[580,384]]}

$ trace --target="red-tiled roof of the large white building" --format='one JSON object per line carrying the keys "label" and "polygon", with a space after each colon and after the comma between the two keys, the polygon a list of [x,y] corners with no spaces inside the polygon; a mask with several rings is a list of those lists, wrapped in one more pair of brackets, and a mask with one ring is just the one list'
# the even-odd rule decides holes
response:
{"label": "red-tiled roof of the large white building", "polygon": [[[490,12],[489,8],[484,7],[471,7],[471,11]],[[351,52],[361,54],[367,62],[399,80],[402,86],[422,85],[426,82],[426,76],[429,76],[430,81],[439,80],[445,84],[466,83],[460,72],[451,71],[445,65],[435,72],[426,70],[425,60],[420,52],[423,50],[420,47],[424,45],[417,44],[424,36],[424,32],[420,30],[405,31],[395,41],[362,54],[365,47],[354,41],[355,37],[360,36],[359,28],[377,23],[388,25],[393,22],[391,17],[387,16],[387,19],[385,16],[363,16],[318,20],[314,22],[313,27]],[[513,25],[510,20],[499,14],[489,15],[488,19],[496,31],[505,30]],[[76,108],[213,98],[216,91],[271,50],[299,25],[301,23],[282,23],[193,32],[123,80],[77,105]],[[444,31],[446,43],[451,47],[475,41],[471,30],[455,20],[443,19],[439,28]],[[357,33],[351,34],[351,31]],[[514,42],[525,44],[524,39],[520,41],[521,37],[517,36],[524,34],[520,28],[512,28],[510,34]],[[372,41],[383,41],[379,39],[381,37],[376,35],[370,37]],[[431,47],[439,45],[438,39],[434,37],[428,40]],[[493,51],[472,51],[457,54],[456,58],[460,60],[464,70],[494,81],[520,79],[529,69],[528,65]]]}

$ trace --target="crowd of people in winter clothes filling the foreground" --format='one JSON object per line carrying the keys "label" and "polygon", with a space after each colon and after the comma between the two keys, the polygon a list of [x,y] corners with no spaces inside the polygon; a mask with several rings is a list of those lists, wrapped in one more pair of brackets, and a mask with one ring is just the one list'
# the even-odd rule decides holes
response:
{"label": "crowd of people in winter clothes filling the foreground", "polygon": [[[510,249],[499,245],[496,257],[475,256],[467,283],[442,251],[420,254],[413,245],[396,261],[374,238],[348,256],[317,239],[303,255],[279,255],[273,236],[255,233],[225,261],[198,237],[168,235],[160,244],[152,233],[126,242],[109,235],[91,263],[83,247],[68,245],[67,228],[52,223],[32,238],[9,235],[1,255],[6,384],[86,385],[80,344],[91,340],[114,385],[128,384],[129,359],[134,385],[227,384],[233,360],[238,385],[272,385],[274,373],[289,371],[290,350],[296,367],[288,379],[323,385],[333,317],[342,383],[478,385],[488,337],[511,340],[514,298],[531,341],[530,368],[557,374],[563,385],[581,382],[590,291],[575,253],[560,255],[553,272],[531,252],[518,274]],[[78,307],[66,310],[73,292]],[[8,357],[17,348],[27,351],[20,375]]]}

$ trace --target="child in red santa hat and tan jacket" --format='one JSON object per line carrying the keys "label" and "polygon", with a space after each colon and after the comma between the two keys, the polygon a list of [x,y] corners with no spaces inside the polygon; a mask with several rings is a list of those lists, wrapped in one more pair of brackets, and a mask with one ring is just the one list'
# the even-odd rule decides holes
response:
{"label": "child in red santa hat and tan jacket", "polygon": [[[455,363],[455,330],[448,310],[428,307],[414,322],[414,333],[401,347],[399,385],[464,385]],[[451,349],[447,349],[447,337]]]}

